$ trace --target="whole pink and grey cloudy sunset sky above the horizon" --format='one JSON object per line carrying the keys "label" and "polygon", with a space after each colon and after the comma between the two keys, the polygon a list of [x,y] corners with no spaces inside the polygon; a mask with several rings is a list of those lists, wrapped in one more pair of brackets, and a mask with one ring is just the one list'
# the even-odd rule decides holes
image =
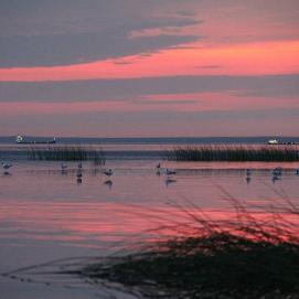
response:
{"label": "whole pink and grey cloudy sunset sky above the horizon", "polygon": [[298,0],[0,2],[0,135],[299,136]]}

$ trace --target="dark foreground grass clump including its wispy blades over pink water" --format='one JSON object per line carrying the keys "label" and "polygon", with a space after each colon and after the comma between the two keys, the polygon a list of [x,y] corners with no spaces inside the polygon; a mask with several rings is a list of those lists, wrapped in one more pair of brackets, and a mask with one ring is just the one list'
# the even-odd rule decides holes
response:
{"label": "dark foreground grass clump including its wispy blades over pink water", "polygon": [[188,229],[184,236],[87,265],[79,275],[142,298],[299,298],[299,213],[292,204],[263,217],[237,205],[225,221],[185,213],[193,225],[175,228]]}

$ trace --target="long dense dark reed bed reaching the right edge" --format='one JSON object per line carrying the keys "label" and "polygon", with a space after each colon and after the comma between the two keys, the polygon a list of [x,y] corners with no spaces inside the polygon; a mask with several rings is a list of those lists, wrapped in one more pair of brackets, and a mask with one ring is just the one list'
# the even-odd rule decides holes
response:
{"label": "long dense dark reed bed reaching the right edge", "polygon": [[202,146],[177,147],[168,151],[169,160],[175,161],[299,161],[296,146]]}

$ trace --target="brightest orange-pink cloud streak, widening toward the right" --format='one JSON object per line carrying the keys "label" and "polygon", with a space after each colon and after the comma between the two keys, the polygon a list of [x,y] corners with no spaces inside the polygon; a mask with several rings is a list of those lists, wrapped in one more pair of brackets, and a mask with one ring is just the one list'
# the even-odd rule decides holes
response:
{"label": "brightest orange-pink cloud streak, widening toward the right", "polygon": [[[202,67],[214,65],[220,67]],[[54,67],[1,68],[0,81],[42,82],[174,75],[268,75],[299,72],[299,41],[209,46],[201,43],[151,55]]]}

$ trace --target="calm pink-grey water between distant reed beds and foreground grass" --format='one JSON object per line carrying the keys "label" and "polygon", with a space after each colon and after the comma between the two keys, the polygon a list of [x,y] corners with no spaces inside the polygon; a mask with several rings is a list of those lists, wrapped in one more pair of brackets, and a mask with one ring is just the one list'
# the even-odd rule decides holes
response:
{"label": "calm pink-grey water between distant reed beds and foreground grass", "polygon": [[[58,162],[18,160],[9,175],[0,174],[0,271],[81,256],[105,256],[122,244],[153,237],[149,228],[169,218],[182,221],[175,204],[191,201],[209,213],[229,211],[227,194],[243,203],[268,205],[284,196],[299,204],[298,163],[163,162],[178,173],[158,175],[158,160],[108,160],[110,184],[102,170],[76,163],[62,173]],[[282,167],[280,180],[271,169]],[[245,169],[253,169],[246,181]],[[39,281],[39,277],[36,278]],[[96,287],[41,284],[0,278],[0,298],[103,298]],[[119,298],[126,298],[119,295]],[[129,298],[129,297],[128,297]]]}

